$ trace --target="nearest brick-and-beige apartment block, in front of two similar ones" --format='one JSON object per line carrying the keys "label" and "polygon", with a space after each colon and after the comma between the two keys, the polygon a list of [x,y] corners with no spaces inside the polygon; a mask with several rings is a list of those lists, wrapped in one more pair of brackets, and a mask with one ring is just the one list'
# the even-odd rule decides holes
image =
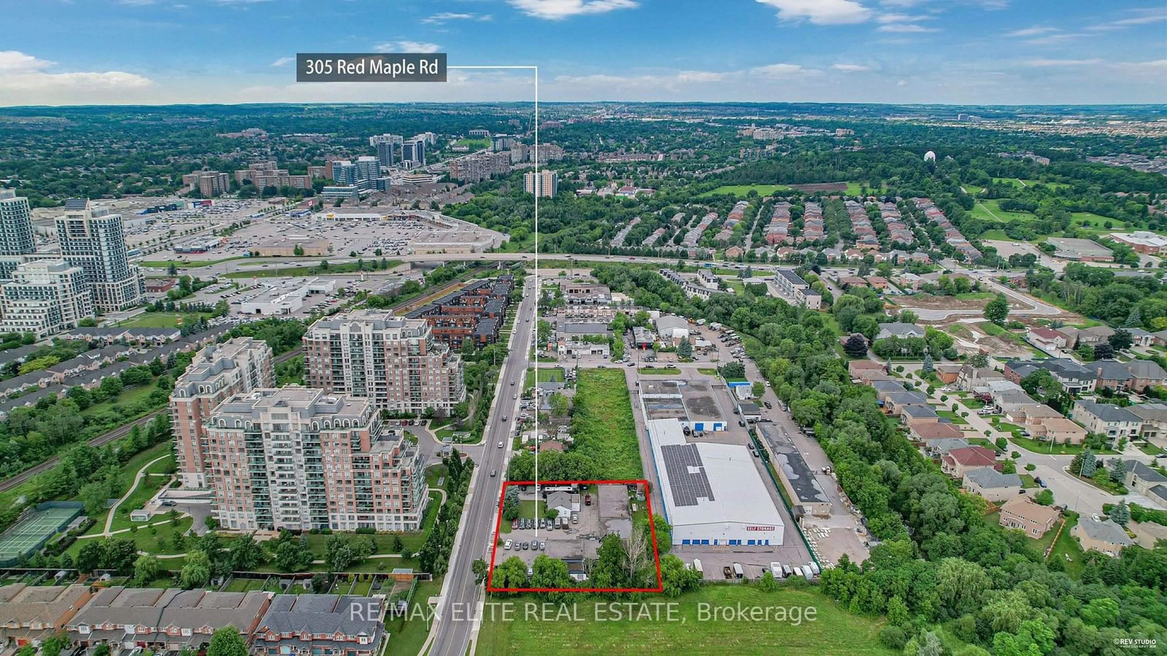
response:
{"label": "nearest brick-and-beige apartment block, in front of two similar ones", "polygon": [[219,525],[236,530],[412,531],[428,495],[424,456],[383,432],[371,399],[289,385],[236,395],[207,421]]}

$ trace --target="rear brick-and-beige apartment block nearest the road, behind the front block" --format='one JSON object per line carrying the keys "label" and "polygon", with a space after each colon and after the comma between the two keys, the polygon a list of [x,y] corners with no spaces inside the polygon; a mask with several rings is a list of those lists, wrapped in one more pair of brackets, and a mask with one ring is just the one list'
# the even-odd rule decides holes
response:
{"label": "rear brick-and-beige apartment block nearest the road, behind the front block", "polygon": [[305,379],[397,412],[448,413],[466,400],[462,358],[424,319],[362,309],[321,319],[303,335]]}

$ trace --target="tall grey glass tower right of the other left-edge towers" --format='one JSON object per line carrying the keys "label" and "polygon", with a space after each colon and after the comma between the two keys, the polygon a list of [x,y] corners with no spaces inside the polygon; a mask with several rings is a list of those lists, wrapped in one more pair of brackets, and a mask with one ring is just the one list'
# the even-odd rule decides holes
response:
{"label": "tall grey glass tower right of the other left-edge towers", "polygon": [[64,216],[56,221],[61,256],[85,272],[98,313],[137,306],[146,293],[146,278],[130,264],[121,215],[84,201],[74,207],[67,203]]}

